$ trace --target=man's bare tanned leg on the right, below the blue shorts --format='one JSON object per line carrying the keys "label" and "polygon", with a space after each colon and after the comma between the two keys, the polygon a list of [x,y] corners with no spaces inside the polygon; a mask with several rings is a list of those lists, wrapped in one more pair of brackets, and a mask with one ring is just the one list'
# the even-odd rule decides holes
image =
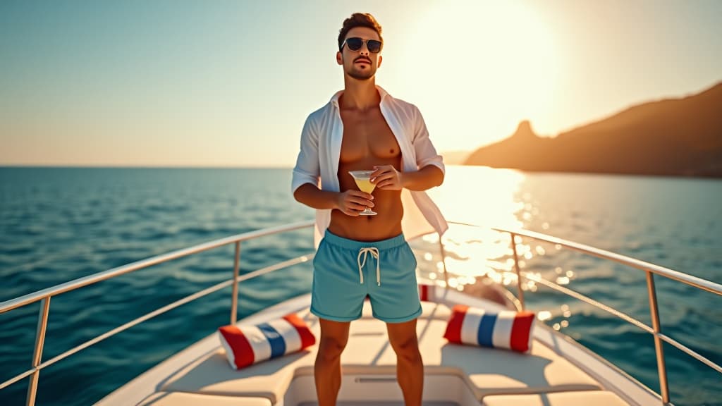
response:
{"label": "man's bare tanned leg on the right, below the blue shorts", "polygon": [[416,319],[386,323],[388,341],[396,353],[396,379],[404,392],[404,405],[421,406],[424,391],[424,363],[419,352]]}

